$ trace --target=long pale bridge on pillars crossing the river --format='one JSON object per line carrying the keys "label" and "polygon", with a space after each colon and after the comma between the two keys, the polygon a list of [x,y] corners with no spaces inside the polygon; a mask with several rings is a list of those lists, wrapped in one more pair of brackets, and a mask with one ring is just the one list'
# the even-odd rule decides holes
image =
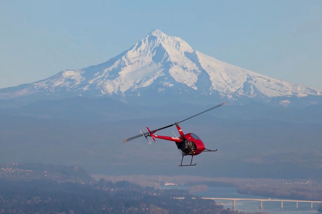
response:
{"label": "long pale bridge on pillars crossing the river", "polygon": [[283,209],[283,202],[295,202],[295,207],[298,209],[298,202],[311,203],[311,209],[313,209],[313,203],[322,203],[322,201],[304,201],[304,200],[287,200],[287,199],[261,199],[261,198],[205,198],[202,199],[211,199],[211,200],[229,200],[232,201],[232,208],[235,209],[236,201],[259,201],[260,209],[263,208],[263,201],[280,201],[280,207]]}

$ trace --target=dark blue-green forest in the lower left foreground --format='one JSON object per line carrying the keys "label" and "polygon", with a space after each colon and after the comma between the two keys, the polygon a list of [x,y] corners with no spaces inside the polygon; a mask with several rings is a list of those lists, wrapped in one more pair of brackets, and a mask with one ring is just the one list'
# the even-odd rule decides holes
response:
{"label": "dark blue-green forest in the lower left foreground", "polygon": [[[184,197],[176,199],[175,197]],[[186,190],[154,189],[128,181],[95,183],[0,179],[1,214],[237,214]]]}

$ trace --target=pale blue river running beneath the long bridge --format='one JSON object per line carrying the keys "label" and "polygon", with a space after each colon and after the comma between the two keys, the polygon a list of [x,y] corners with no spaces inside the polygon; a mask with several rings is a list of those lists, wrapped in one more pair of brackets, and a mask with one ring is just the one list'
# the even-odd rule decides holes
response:
{"label": "pale blue river running beneath the long bridge", "polygon": [[[179,188],[187,189],[188,186],[161,186],[161,188]],[[246,195],[237,193],[237,187],[225,187],[225,186],[208,186],[207,192],[194,192],[200,197],[209,198],[263,198],[268,197],[258,196],[258,195]],[[310,203],[299,202],[298,209],[295,208],[295,202],[283,202],[283,209],[280,209],[280,202],[274,201],[274,197],[270,197],[272,201],[263,201],[263,209],[260,210],[259,201],[236,201],[235,210],[245,211],[245,212],[267,212],[270,214],[312,214],[319,213],[317,211],[317,203],[313,203],[313,209],[310,209]],[[224,208],[232,209],[232,201],[216,200],[218,202],[227,202],[223,204]]]}

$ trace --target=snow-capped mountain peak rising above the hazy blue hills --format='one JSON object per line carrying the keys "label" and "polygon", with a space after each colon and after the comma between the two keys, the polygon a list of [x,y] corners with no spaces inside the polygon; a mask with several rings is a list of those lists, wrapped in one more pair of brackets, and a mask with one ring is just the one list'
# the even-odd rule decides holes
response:
{"label": "snow-capped mountain peak rising above the hazy blue hills", "polygon": [[194,50],[179,37],[153,30],[107,62],[1,89],[0,99],[86,96],[129,101],[173,95],[175,100],[179,94],[182,100],[254,98],[267,102],[279,97],[281,104],[288,104],[285,97],[304,98],[322,95],[322,91],[221,62]]}

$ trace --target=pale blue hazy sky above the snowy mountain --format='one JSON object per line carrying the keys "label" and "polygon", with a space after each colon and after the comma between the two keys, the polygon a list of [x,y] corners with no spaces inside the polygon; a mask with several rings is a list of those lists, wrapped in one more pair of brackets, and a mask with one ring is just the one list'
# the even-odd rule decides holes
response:
{"label": "pale blue hazy sky above the snowy mountain", "polygon": [[322,1],[0,1],[0,88],[99,64],[153,29],[322,89]]}

